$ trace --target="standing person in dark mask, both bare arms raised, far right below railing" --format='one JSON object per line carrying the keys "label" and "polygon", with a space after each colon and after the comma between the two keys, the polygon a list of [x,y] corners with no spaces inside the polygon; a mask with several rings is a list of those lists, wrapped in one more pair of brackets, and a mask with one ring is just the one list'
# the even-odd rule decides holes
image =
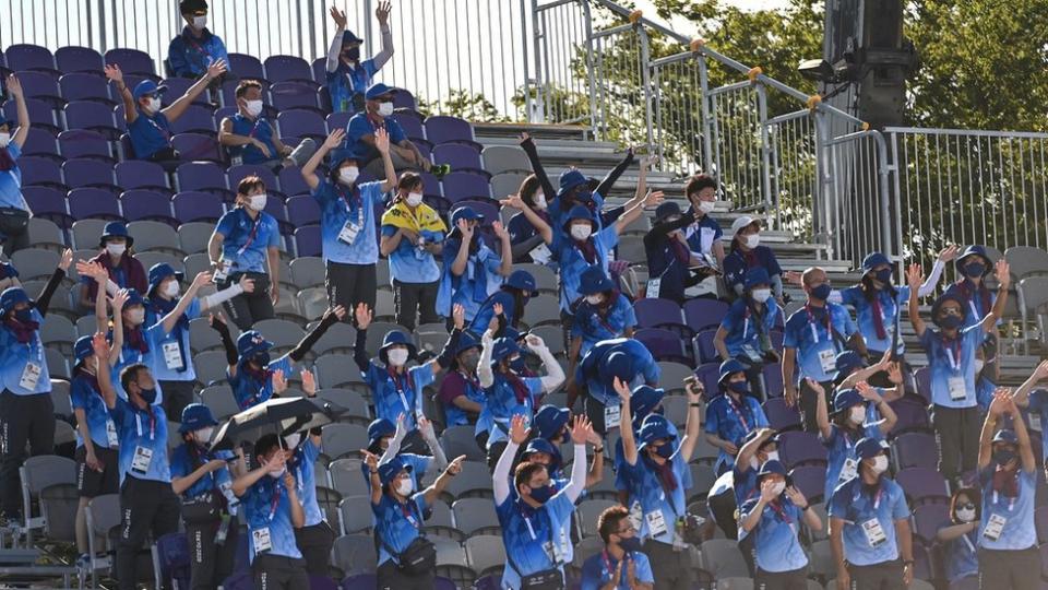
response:
{"label": "standing person in dark mask, both bare arms raised, far right below railing", "polygon": [[920,318],[917,305],[920,267],[913,264],[906,273],[909,281],[909,321],[925,347],[931,370],[933,425],[941,450],[939,471],[948,480],[976,467],[979,429],[975,388],[976,350],[981,346],[986,334],[997,328],[1011,284],[1008,262],[1003,259],[998,261],[996,272],[1000,294],[989,314],[978,323],[964,328],[964,302],[946,292],[931,306],[931,319],[940,327],[939,330],[929,330]]}

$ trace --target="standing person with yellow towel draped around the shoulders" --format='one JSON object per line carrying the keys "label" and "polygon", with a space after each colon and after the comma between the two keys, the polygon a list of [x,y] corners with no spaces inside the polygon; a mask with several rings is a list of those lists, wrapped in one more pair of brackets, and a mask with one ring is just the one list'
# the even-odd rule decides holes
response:
{"label": "standing person with yellow towel draped around the shoulders", "polygon": [[422,177],[404,173],[390,208],[382,214],[379,252],[390,259],[390,282],[396,322],[415,331],[415,319],[437,323],[437,291],[448,226],[440,213],[422,202]]}

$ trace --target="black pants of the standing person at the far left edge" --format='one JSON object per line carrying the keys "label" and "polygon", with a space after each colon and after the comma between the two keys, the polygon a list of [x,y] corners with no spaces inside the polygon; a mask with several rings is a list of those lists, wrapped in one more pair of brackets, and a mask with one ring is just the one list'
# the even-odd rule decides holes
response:
{"label": "black pants of the standing person at the far left edge", "polygon": [[[50,393],[15,396],[4,389],[0,393],[0,492],[8,518],[22,514],[22,479],[19,470],[25,462],[25,445],[29,455],[55,453],[55,403]],[[168,486],[170,487],[170,486]]]}

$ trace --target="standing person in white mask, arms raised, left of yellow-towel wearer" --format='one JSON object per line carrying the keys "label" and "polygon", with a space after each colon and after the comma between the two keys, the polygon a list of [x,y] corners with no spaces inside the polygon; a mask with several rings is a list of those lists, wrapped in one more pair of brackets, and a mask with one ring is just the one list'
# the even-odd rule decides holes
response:
{"label": "standing person in white mask, arms raised, left of yellow-towel wearer", "polygon": [[374,271],[379,261],[374,208],[382,202],[382,194],[396,186],[396,172],[390,160],[390,138],[384,130],[379,130],[374,144],[384,163],[384,181],[357,184],[362,163],[352,153],[333,157],[329,177],[321,177],[317,167],[344,137],[341,129],[333,130],[302,166],[302,178],[320,204],[327,300],[346,309],[355,309],[360,303],[374,308],[379,288]]}

